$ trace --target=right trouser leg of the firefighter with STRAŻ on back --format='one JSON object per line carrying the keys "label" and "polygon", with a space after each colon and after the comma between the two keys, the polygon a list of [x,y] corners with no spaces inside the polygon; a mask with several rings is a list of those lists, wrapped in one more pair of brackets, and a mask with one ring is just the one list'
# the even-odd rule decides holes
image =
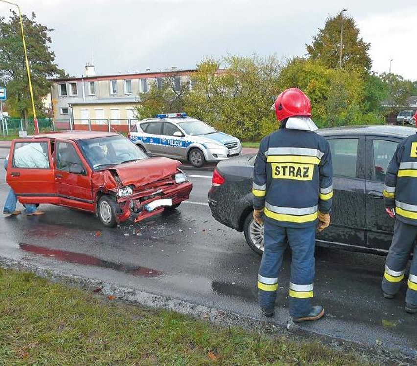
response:
{"label": "right trouser leg of the firefighter with STRA\u017b on back", "polygon": [[287,232],[292,251],[290,314],[297,319],[309,315],[312,310],[316,232],[314,226],[288,228]]}

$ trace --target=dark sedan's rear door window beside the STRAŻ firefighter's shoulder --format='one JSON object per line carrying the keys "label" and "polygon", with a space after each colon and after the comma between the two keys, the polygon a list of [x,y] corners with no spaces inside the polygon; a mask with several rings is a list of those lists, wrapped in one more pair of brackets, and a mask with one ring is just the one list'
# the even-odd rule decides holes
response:
{"label": "dark sedan's rear door window beside the STRA\u017b firefighter's shoulder", "polygon": [[342,177],[356,177],[356,160],[358,156],[357,138],[333,138],[330,144],[333,174]]}

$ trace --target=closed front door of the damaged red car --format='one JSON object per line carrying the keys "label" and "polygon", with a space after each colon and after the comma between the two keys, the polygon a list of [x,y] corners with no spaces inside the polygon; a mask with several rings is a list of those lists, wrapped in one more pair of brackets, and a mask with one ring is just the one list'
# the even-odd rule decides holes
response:
{"label": "closed front door of the damaged red car", "polygon": [[55,184],[61,206],[94,212],[91,169],[74,141],[55,141]]}

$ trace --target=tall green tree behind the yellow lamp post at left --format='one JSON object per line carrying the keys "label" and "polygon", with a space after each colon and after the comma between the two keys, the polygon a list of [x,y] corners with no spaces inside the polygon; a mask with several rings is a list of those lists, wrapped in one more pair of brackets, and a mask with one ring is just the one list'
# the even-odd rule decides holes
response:
{"label": "tall green tree behind the yellow lamp post at left", "polygon": [[[42,98],[50,92],[48,78],[64,77],[65,73],[54,64],[55,54],[50,50],[49,32],[53,29],[36,23],[34,13],[31,18],[22,15],[22,23],[35,109],[41,111]],[[20,115],[26,121],[32,113],[32,104],[19,16],[13,11],[8,21],[0,17],[0,83],[7,87],[11,114]]]}

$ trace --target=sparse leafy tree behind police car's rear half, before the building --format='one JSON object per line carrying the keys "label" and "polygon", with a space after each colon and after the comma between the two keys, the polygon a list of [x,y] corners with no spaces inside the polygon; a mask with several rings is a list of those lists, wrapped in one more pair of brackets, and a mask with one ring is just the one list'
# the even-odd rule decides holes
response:
{"label": "sparse leafy tree behind police car's rear half, before the building", "polygon": [[179,72],[151,83],[149,92],[139,93],[136,107],[138,118],[150,118],[159,113],[183,112],[190,92],[190,81],[182,80]]}

